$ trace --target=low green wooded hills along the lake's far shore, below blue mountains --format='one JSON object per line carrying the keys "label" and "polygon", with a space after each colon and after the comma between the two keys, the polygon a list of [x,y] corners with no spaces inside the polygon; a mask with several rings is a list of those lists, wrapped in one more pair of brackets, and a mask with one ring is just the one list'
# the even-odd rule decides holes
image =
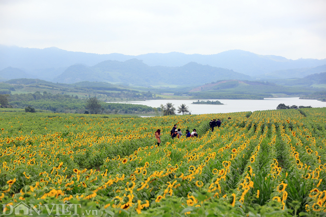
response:
{"label": "low green wooded hills along the lake's far shore, below blue mountains", "polygon": [[[14,79],[6,83],[0,83],[0,91],[10,94],[11,102],[17,101],[17,107],[25,108],[26,106],[34,106],[32,104],[20,104],[18,101],[34,101],[38,100],[35,95],[43,93],[47,97],[42,99],[60,98],[59,95],[69,95],[69,99],[88,99],[96,97],[100,101],[105,102],[120,102],[120,101],[137,101],[151,99],[257,99],[272,98],[273,96],[303,96],[313,94],[316,88],[310,87],[285,87],[276,85],[270,82],[260,81],[239,81],[226,80],[217,81],[202,85],[194,86],[179,86],[174,88],[153,88],[153,87],[130,87],[126,85],[113,85],[105,82],[78,82],[75,84],[59,84],[39,79]],[[321,89],[323,90],[323,89]],[[15,93],[15,94],[13,94]],[[17,94],[19,93],[19,94]],[[22,95],[23,94],[23,95]],[[24,95],[27,94],[27,95]],[[162,95],[167,94],[167,95]],[[32,96],[33,95],[33,96]],[[32,97],[34,99],[32,99]],[[309,96],[315,98],[317,96]],[[26,100],[22,100],[22,99]],[[319,96],[322,100],[326,97]],[[318,99],[319,99],[318,98]],[[72,104],[78,103],[78,100],[72,100]],[[76,110],[77,106],[69,106],[69,103],[55,106],[62,112],[66,110]],[[37,106],[35,106],[36,108]],[[55,111],[55,109],[44,108],[40,109]],[[60,108],[63,107],[63,108]],[[72,107],[72,108],[71,108]],[[84,109],[84,108],[80,108]],[[78,111],[80,113],[80,111]]]}

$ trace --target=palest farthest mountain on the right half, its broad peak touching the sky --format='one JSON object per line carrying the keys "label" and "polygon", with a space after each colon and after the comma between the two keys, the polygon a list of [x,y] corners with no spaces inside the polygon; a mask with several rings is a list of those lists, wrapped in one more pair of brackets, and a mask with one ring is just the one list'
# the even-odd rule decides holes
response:
{"label": "palest farthest mountain on the right half, its broad peak touching the sky", "polygon": [[[259,76],[277,70],[293,68],[311,68],[326,64],[326,59],[298,59],[288,60],[273,55],[258,55],[248,51],[231,50],[213,55],[187,55],[183,53],[144,54],[137,56],[149,66],[180,66],[188,62],[203,65],[233,69],[236,72],[250,76]],[[179,65],[178,65],[179,64]]]}

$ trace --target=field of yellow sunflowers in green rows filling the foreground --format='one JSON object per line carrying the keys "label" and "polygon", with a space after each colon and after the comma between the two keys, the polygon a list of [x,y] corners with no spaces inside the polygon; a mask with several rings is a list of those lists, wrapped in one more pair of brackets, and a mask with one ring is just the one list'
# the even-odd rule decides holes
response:
{"label": "field of yellow sunflowers in green rows filling the foreground", "polygon": [[3,112],[0,215],[325,216],[326,108],[246,114]]}

